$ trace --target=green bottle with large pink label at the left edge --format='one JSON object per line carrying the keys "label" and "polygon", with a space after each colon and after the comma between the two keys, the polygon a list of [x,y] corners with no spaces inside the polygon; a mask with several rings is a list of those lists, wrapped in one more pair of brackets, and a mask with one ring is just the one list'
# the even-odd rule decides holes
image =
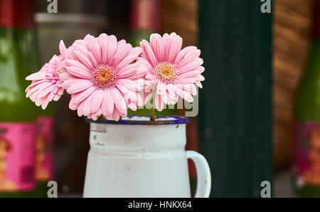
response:
{"label": "green bottle with large pink label at the left edge", "polygon": [[18,47],[18,2],[0,0],[0,196],[30,197],[35,189],[36,107]]}

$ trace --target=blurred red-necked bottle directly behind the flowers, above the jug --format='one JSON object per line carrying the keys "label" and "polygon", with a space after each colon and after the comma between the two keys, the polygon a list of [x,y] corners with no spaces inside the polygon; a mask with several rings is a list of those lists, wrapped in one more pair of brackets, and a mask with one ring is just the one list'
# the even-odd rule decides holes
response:
{"label": "blurred red-necked bottle directly behind the flowers, above the jug", "polygon": [[[162,0],[132,0],[131,1],[131,12],[130,12],[130,40],[132,46],[140,46],[140,41],[145,39],[149,41],[152,33],[161,32],[161,7]],[[150,102],[150,100],[149,100]],[[147,104],[149,105],[149,104]],[[156,115],[176,115],[176,109],[162,110],[161,112],[156,111]],[[138,109],[132,112],[128,110],[129,115],[149,115],[150,110]]]}

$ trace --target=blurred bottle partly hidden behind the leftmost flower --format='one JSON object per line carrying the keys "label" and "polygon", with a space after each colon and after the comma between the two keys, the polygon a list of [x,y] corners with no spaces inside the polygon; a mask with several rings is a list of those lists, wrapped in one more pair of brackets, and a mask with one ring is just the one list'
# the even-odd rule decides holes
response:
{"label": "blurred bottle partly hidden behind the leftmost flower", "polygon": [[[18,7],[18,28],[16,36],[23,64],[28,74],[40,69],[40,59],[36,38],[36,24],[34,21],[35,0],[16,0]],[[36,197],[47,196],[47,183],[52,179],[53,169],[53,102],[46,110],[36,107]]]}

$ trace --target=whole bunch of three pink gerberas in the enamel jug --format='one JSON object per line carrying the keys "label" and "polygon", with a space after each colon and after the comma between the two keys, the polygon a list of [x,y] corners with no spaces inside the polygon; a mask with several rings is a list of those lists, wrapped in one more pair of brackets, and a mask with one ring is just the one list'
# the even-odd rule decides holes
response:
{"label": "whole bunch of three pink gerberas in the enamel jug", "polygon": [[201,51],[181,47],[176,33],[152,34],[149,42],[143,40],[135,48],[105,33],[97,38],[87,35],[68,48],[60,41],[60,55],[26,78],[32,80],[26,97],[45,109],[66,91],[71,95],[70,109],[79,116],[117,121],[127,116],[127,107],[135,111],[153,96],[154,120],[154,108],[175,105],[178,97],[193,102],[196,85],[202,88]]}

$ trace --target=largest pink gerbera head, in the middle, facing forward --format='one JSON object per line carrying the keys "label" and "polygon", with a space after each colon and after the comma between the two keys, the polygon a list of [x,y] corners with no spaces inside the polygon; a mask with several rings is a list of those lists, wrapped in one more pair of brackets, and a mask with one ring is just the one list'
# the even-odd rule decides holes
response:
{"label": "largest pink gerbera head, in the middle, facing forward", "polygon": [[142,48],[132,48],[105,33],[97,38],[87,35],[72,47],[63,61],[65,72],[59,76],[71,95],[71,110],[93,120],[100,115],[119,120],[127,116],[127,105],[132,110],[143,105],[139,91],[147,70],[141,63],[133,63]]}

